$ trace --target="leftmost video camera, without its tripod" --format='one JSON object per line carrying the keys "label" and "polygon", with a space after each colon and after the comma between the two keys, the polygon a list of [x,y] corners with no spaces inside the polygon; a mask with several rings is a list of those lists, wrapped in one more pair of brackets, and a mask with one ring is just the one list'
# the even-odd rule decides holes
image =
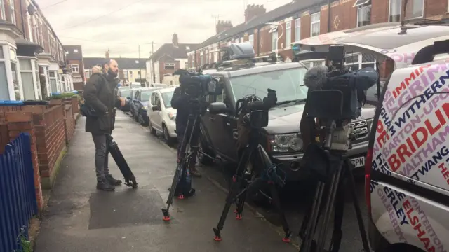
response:
{"label": "leftmost video camera, without its tripod", "polygon": [[180,69],[173,75],[180,75],[180,87],[185,94],[192,99],[200,99],[208,94],[221,94],[220,87],[217,86],[218,80],[209,74],[200,72],[189,72]]}

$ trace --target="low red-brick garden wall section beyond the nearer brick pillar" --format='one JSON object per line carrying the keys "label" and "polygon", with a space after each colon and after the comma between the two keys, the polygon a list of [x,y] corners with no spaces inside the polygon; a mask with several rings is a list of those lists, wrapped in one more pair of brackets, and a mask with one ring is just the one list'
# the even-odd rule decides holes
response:
{"label": "low red-brick garden wall section beyond the nearer brick pillar", "polygon": [[[56,160],[65,148],[65,120],[62,106],[52,106],[33,118],[39,169],[43,178],[51,178]],[[38,123],[39,122],[39,123]]]}

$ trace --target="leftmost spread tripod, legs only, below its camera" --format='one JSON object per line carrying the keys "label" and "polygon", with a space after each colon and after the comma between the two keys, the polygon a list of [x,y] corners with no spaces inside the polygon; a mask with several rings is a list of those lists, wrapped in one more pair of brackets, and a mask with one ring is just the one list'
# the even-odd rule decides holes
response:
{"label": "leftmost spread tripod, legs only, below its camera", "polygon": [[[192,157],[194,154],[199,152],[198,140],[200,133],[202,137],[206,137],[208,143],[210,141],[210,135],[204,126],[203,118],[201,118],[200,107],[196,107],[192,113],[189,114],[189,119],[187,120],[187,127],[185,128],[184,137],[182,138],[181,148],[178,155],[178,161],[175,170],[175,176],[173,176],[173,182],[171,183],[170,193],[168,194],[167,207],[161,209],[163,214],[163,221],[170,221],[170,206],[173,204],[173,198],[177,195],[177,198],[182,200],[185,197],[190,197],[195,194],[195,189],[191,188],[191,182],[186,179],[189,178],[189,167],[192,162]],[[187,134],[190,130],[190,134]],[[194,141],[195,146],[191,146],[189,151],[186,152],[187,146]],[[213,146],[212,146],[213,148]],[[215,148],[213,148],[215,150]],[[206,155],[210,159],[210,155],[201,152],[201,154]],[[185,194],[187,192],[187,194]]]}

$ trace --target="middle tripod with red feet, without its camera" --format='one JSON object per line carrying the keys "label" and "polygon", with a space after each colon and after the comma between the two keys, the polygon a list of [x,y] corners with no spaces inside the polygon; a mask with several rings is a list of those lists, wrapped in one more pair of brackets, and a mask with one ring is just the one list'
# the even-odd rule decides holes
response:
{"label": "middle tripod with red feet, without its camera", "polygon": [[[225,225],[227,214],[229,213],[229,209],[231,209],[231,205],[236,204],[236,219],[241,220],[247,193],[251,194],[255,190],[259,190],[260,186],[262,186],[264,183],[268,183],[269,190],[272,195],[272,202],[274,203],[274,206],[279,213],[281,223],[283,225],[285,236],[282,240],[285,242],[290,242],[290,228],[288,227],[286,217],[281,209],[279,194],[276,190],[276,185],[284,185],[285,178],[281,178],[279,176],[281,170],[276,169],[276,166],[274,166],[269,160],[268,154],[264,151],[264,148],[260,146],[259,136],[259,130],[251,130],[249,141],[250,144],[248,144],[248,146],[246,146],[246,148],[241,153],[239,165],[236,169],[236,173],[232,178],[232,185],[226,198],[225,208],[222,211],[222,215],[220,216],[220,221],[218,221],[217,227],[213,228],[215,241],[222,240],[220,232],[221,230],[223,230],[223,225]],[[251,182],[250,180],[254,175],[256,175],[256,172],[253,170],[248,174],[248,172],[246,171],[246,167],[248,165],[248,162],[250,162],[250,160],[255,160],[255,158],[262,161],[264,170],[262,170],[260,176],[255,179],[255,181]]]}

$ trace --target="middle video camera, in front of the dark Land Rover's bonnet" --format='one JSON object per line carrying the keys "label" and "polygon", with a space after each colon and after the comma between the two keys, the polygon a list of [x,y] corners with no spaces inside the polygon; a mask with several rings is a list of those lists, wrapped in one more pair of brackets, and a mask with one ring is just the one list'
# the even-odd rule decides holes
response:
{"label": "middle video camera, in front of the dark Land Rover's bonnet", "polygon": [[243,113],[243,120],[253,129],[260,129],[268,125],[268,111],[277,102],[276,91],[267,89],[267,97],[263,100],[253,95],[248,95],[236,102],[236,117]]}

